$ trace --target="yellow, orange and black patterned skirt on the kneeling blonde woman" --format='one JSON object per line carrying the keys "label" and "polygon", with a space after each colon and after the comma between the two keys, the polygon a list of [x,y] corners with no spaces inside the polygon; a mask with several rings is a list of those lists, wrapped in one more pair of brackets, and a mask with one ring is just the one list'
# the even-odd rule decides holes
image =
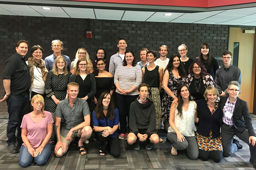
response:
{"label": "yellow, orange and black patterned skirt on the kneeling blonde woman", "polygon": [[222,151],[221,136],[218,138],[212,137],[212,132],[210,131],[210,136],[203,136],[196,132],[196,140],[198,149],[205,151]]}

